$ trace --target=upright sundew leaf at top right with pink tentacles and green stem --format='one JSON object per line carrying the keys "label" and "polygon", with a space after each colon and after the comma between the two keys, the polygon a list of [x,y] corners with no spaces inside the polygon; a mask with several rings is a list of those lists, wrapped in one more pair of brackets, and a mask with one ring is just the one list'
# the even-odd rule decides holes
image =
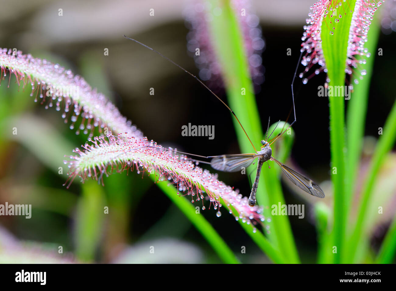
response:
{"label": "upright sundew leaf at top right with pink tentacles and green stem", "polygon": [[[334,186],[334,226],[333,238],[335,262],[340,262],[340,253],[345,250],[346,202],[345,190],[349,177],[345,171],[345,114],[344,99],[346,97],[345,74],[351,76],[354,83],[358,82],[354,74],[365,74],[360,67],[365,61],[357,55],[369,57],[364,43],[374,12],[382,1],[369,0],[350,1],[317,1],[310,7],[307,19],[308,26],[303,36],[303,57],[306,72],[313,65],[322,66],[316,69],[327,73],[327,83],[333,93],[329,93],[330,104],[330,140],[331,140],[331,172]],[[308,79],[303,82],[307,83]],[[351,87],[349,87],[350,89]],[[329,91],[330,92],[330,91]],[[337,92],[337,93],[336,93]],[[339,93],[341,92],[341,93]]]}

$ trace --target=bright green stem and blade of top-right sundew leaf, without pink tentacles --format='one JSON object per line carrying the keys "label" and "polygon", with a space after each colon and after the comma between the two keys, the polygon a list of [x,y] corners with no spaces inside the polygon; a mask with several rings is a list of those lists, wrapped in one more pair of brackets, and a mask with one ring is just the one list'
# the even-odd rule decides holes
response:
{"label": "bright green stem and blade of top-right sundew leaf, without pink tentacles", "polygon": [[[348,7],[353,10],[356,0],[350,0]],[[344,117],[344,94],[339,95],[337,88],[344,88],[345,85],[345,64],[347,58],[347,47],[349,30],[352,20],[352,12],[344,10],[341,5],[332,8],[331,13],[322,22],[322,48],[326,61],[327,76],[330,79],[329,86],[333,86],[333,94],[329,94],[330,104],[330,151],[331,151],[331,180],[334,189],[334,224],[333,238],[337,253],[333,262],[340,263],[342,253],[345,251],[345,117]],[[337,15],[343,13],[342,19],[334,25],[330,24],[330,14]],[[339,87],[341,86],[341,87]],[[342,90],[344,91],[344,90]],[[337,92],[337,93],[336,93]]]}

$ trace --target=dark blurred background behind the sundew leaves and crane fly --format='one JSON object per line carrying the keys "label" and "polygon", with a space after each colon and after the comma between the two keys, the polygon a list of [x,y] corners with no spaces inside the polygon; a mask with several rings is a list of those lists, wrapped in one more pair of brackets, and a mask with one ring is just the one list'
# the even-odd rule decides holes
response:
{"label": "dark blurred background behind the sundew leaves and crane fly", "polygon": [[[300,54],[303,26],[313,2],[251,2],[265,44],[261,55],[264,82],[257,90],[263,127],[268,116],[272,121],[287,118],[292,105],[290,84]],[[240,153],[232,116],[224,105],[191,76],[122,36],[126,34],[151,46],[198,75],[187,51],[189,25],[185,15],[191,7],[188,1],[1,0],[0,7],[0,47],[20,49],[80,74],[112,100],[148,140],[203,156]],[[154,17],[149,15],[151,8]],[[61,17],[59,9],[63,10]],[[378,138],[378,128],[383,127],[395,98],[392,85],[396,78],[396,38],[392,17],[396,17],[396,10],[389,11],[394,12],[383,21],[378,44],[383,55],[372,53],[376,58],[361,179]],[[109,49],[107,56],[103,53],[105,48]],[[298,72],[302,71],[300,66]],[[302,85],[297,76],[295,143],[290,160],[283,162],[319,183],[326,193],[325,202],[330,205],[328,100],[317,94],[325,78],[321,73]],[[4,130],[0,140],[0,204],[32,204],[32,218],[0,217],[0,262],[221,262],[150,179],[122,173],[106,177],[104,187],[95,181],[88,181],[84,187],[75,181],[69,190],[63,187],[67,169],[59,174],[58,168],[63,166],[64,155],[72,154],[72,149],[84,144],[88,136],[76,135],[69,124],[65,125],[60,112],[35,104],[34,97],[29,96],[30,89],[18,92],[13,81],[10,88],[0,87]],[[151,87],[155,95],[150,95]],[[216,90],[227,102],[224,90]],[[238,115],[238,108],[233,109]],[[214,125],[215,138],[183,137],[181,127],[188,123]],[[16,136],[9,134],[13,127],[18,128]],[[375,191],[378,199],[394,205],[394,209],[395,174],[396,156],[390,154]],[[246,175],[219,173],[219,179],[240,189],[242,194],[250,192]],[[95,195],[84,195],[84,191]],[[286,203],[306,205],[305,219],[289,219],[302,261],[314,262],[317,242],[309,207],[314,200],[295,191],[285,181]],[[108,205],[112,211],[103,217],[95,212],[97,205]],[[215,212],[207,209],[202,214],[234,253],[240,253],[241,246],[247,247],[247,254],[237,255],[242,262],[269,262],[232,215],[218,218]],[[367,229],[374,252],[391,216],[373,220]],[[162,253],[167,255],[150,257],[148,244],[161,245]],[[59,246],[63,247],[62,255],[58,253]]]}

